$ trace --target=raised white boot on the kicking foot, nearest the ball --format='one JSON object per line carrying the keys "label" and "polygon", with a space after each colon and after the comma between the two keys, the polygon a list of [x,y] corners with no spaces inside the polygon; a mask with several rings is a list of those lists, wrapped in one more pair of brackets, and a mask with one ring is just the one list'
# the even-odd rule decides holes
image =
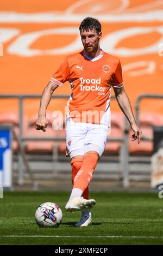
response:
{"label": "raised white boot on the kicking foot, nearest the ball", "polygon": [[90,210],[93,206],[95,206],[96,201],[94,199],[84,199],[81,198],[73,198],[67,202],[65,206],[65,210],[67,212],[76,212],[76,211],[86,211]]}

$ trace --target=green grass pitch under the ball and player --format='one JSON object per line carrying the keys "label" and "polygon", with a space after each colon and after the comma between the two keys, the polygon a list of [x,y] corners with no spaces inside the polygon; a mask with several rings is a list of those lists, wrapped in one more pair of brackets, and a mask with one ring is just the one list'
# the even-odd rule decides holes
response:
{"label": "green grass pitch under the ball and player", "polygon": [[[0,199],[0,245],[162,245],[163,199],[158,193],[95,192],[93,225],[73,227],[80,212],[64,209],[68,192],[4,192]],[[41,203],[57,203],[61,225],[39,228],[35,210]]]}

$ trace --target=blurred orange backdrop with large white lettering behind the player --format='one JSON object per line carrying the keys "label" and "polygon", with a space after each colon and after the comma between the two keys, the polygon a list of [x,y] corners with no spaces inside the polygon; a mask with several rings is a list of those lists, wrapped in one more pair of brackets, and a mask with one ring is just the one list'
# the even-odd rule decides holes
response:
{"label": "blurred orange backdrop with large white lettering behind the player", "polygon": [[[62,59],[82,50],[78,27],[86,16],[101,21],[102,48],[120,57],[125,88],[133,108],[141,93],[163,94],[163,56],[159,56],[159,50],[163,55],[163,47],[159,46],[163,44],[162,1],[1,0],[0,6],[1,94],[41,94]],[[28,40],[31,40],[29,45]],[[66,50],[72,43],[74,45]],[[67,83],[56,93],[70,94],[70,86]],[[141,109],[163,113],[162,102],[143,100]],[[65,104],[66,101],[56,100],[49,109],[63,110]],[[29,116],[38,108],[38,100],[26,102],[25,111]],[[11,110],[17,110],[15,101],[1,100],[0,113]],[[114,101],[112,110],[118,110]]]}

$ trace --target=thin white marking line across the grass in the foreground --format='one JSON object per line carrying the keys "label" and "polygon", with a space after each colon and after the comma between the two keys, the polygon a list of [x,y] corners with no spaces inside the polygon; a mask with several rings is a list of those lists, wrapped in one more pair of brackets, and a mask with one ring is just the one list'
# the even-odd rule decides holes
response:
{"label": "thin white marking line across the grass in the foreground", "polygon": [[49,236],[49,235],[31,235],[31,236],[26,236],[26,235],[0,235],[0,237],[84,237],[84,238],[153,238],[153,239],[163,239],[163,236]]}

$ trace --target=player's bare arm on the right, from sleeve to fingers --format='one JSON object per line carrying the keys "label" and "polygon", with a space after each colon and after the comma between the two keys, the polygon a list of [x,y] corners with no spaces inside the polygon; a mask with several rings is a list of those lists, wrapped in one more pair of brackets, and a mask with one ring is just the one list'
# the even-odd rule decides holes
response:
{"label": "player's bare arm on the right, from sleeve to fingers", "polygon": [[138,139],[138,143],[140,143],[142,132],[140,127],[136,124],[135,117],[131,109],[131,104],[126,92],[124,91],[124,87],[121,87],[121,88],[113,87],[113,88],[114,88],[115,97],[118,102],[118,105],[120,106],[124,115],[127,117],[130,123],[131,129],[134,131],[134,134],[132,135],[132,139],[133,140]]}

